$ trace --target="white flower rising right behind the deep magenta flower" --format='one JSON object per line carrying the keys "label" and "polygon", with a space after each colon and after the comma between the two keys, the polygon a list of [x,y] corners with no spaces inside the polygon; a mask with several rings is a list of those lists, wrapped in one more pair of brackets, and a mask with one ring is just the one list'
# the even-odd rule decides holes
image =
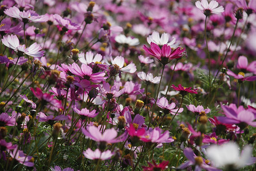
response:
{"label": "white flower rising right behind the deep magenta flower", "polygon": [[147,42],[150,44],[151,42],[156,43],[159,46],[163,46],[164,44],[167,44],[171,47],[176,47],[178,44],[174,44],[176,39],[173,37],[171,42],[169,41],[169,35],[167,33],[163,33],[160,37],[159,32],[153,31],[152,35],[149,35],[147,37]]}

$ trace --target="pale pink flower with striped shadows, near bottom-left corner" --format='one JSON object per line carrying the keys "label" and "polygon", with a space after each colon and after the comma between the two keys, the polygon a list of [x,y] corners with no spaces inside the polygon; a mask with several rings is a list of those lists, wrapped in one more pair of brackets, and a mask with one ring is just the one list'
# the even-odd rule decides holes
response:
{"label": "pale pink flower with striped shadows, near bottom-left corner", "polygon": [[17,160],[20,164],[23,164],[28,167],[34,166],[34,163],[30,161],[32,156],[26,156],[26,154],[24,154],[22,150],[18,150],[17,148],[15,148],[13,152],[11,152],[11,150],[8,151],[10,153],[10,156]]}

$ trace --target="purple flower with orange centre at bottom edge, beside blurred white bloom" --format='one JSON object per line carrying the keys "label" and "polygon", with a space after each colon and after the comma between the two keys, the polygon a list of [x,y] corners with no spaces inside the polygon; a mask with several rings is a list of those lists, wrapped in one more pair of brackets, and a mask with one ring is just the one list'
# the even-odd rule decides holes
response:
{"label": "purple flower with orange centre at bottom edge, beside blurred white bloom", "polygon": [[188,166],[195,165],[195,170],[210,170],[210,171],[220,171],[212,166],[206,164],[206,160],[203,157],[196,156],[191,148],[185,148],[183,150],[184,155],[187,157],[188,161],[180,165],[178,169],[185,169]]}

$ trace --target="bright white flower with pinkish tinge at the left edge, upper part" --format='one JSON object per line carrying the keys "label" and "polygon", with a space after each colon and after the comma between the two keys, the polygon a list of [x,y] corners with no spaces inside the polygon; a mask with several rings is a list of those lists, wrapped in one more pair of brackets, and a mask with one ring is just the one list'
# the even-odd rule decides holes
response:
{"label": "bright white flower with pinkish tinge at the left edge, upper part", "polygon": [[23,56],[24,54],[33,57],[44,56],[44,51],[41,51],[42,47],[40,45],[37,43],[31,44],[30,47],[25,47],[25,44],[20,45],[16,35],[3,36],[2,43],[13,49],[18,56]]}

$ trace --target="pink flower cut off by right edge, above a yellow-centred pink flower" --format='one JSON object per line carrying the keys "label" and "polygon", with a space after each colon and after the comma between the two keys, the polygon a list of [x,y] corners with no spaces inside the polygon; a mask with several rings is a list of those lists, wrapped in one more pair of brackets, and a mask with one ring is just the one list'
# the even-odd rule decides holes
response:
{"label": "pink flower cut off by right edge, above a yellow-centred pink flower", "polygon": [[253,74],[256,74],[256,61],[248,64],[248,60],[245,56],[239,56],[237,61],[237,68],[242,70],[243,72],[249,71],[253,72]]}

